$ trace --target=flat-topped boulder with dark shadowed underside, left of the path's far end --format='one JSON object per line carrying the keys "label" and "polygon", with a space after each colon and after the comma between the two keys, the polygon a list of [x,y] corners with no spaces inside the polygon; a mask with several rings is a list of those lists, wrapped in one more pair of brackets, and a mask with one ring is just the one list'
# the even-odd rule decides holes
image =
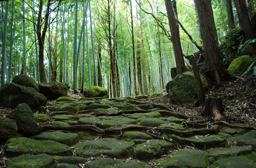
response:
{"label": "flat-topped boulder with dark shadowed underside, left of the path's far end", "polygon": [[47,99],[57,99],[59,97],[68,96],[69,86],[66,83],[50,82],[38,83],[39,92],[44,94]]}

